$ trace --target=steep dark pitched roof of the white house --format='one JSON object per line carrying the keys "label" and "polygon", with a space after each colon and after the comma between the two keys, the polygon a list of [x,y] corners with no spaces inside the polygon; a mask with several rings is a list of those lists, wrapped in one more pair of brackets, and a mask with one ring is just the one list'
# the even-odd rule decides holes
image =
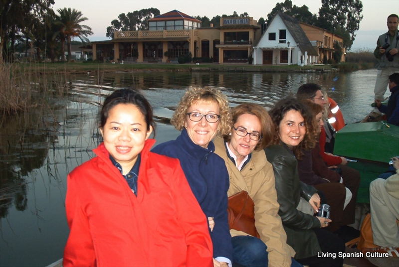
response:
{"label": "steep dark pitched roof of the white house", "polygon": [[[309,56],[318,56],[317,51],[310,43],[309,38],[306,36],[305,31],[302,29],[301,25],[299,24],[298,20],[290,15],[287,15],[283,12],[278,11],[270,23],[267,25],[269,27],[273,22],[274,18],[279,15],[281,20],[284,22],[284,25],[287,27],[287,30],[291,33],[292,37],[294,38],[295,42],[299,44],[299,49],[301,49],[302,53],[305,54],[305,51],[308,52]],[[264,33],[266,33],[267,28]],[[264,34],[263,33],[263,34]]]}

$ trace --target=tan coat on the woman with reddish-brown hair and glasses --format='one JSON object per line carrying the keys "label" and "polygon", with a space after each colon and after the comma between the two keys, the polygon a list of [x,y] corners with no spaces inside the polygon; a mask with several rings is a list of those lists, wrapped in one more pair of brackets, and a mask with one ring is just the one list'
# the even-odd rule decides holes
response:
{"label": "tan coat on the woman with reddish-brown hair and glasses", "polygon": [[[255,227],[260,239],[266,244],[269,253],[269,267],[290,267],[291,257],[295,251],[287,245],[287,235],[283,229],[274,181],[274,172],[271,164],[266,160],[262,150],[253,151],[251,159],[242,168],[237,169],[227,157],[222,138],[213,140],[215,153],[224,159],[230,179],[228,196],[245,190],[255,203]],[[230,230],[231,236],[247,235],[243,232]]]}

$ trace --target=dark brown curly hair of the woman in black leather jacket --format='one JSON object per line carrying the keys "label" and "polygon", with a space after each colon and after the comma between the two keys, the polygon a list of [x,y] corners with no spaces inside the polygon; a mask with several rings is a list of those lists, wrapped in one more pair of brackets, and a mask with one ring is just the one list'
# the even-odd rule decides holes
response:
{"label": "dark brown curly hair of the woman in black leather jacket", "polygon": [[295,154],[296,158],[300,160],[303,156],[303,150],[314,148],[316,146],[316,140],[314,138],[315,130],[313,127],[313,115],[299,100],[292,97],[282,99],[276,103],[273,109],[270,110],[269,114],[273,120],[275,128],[272,144],[280,143],[280,123],[290,110],[298,111],[301,114],[306,127],[306,133],[303,140],[297,146],[292,148],[292,152]]}

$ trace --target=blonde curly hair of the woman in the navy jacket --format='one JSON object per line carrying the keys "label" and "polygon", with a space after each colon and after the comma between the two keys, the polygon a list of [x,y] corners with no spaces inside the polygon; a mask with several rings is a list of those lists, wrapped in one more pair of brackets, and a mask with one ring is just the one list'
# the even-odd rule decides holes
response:
{"label": "blonde curly hair of the woman in the navy jacket", "polygon": [[219,106],[220,119],[217,126],[217,135],[222,136],[230,133],[231,114],[228,106],[227,97],[218,89],[200,86],[190,86],[184,94],[175,113],[171,119],[171,124],[178,131],[182,131],[185,125],[187,110],[196,102],[201,101],[205,105],[215,102]]}

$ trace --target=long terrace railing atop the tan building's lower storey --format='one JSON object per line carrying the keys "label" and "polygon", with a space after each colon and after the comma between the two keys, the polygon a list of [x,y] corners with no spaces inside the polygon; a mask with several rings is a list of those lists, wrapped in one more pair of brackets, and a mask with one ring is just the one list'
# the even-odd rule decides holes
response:
{"label": "long terrace railing atop the tan building's lower storey", "polygon": [[197,30],[135,30],[115,31],[114,39],[190,37],[190,31],[194,31],[194,36],[198,35]]}

